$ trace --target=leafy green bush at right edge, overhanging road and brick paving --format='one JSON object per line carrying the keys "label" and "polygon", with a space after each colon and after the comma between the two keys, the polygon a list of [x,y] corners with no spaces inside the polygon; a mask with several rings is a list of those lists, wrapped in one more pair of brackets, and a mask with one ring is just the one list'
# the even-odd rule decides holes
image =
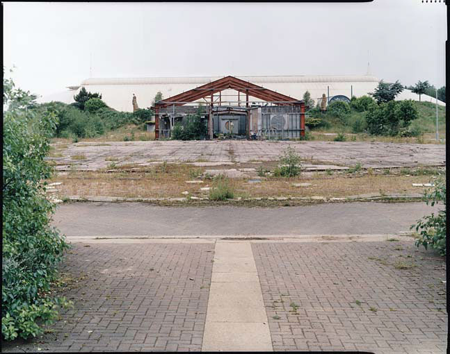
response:
{"label": "leafy green bush at right edge, overhanging road and brick paving", "polygon": [[425,249],[434,248],[440,255],[445,255],[445,239],[447,235],[447,207],[446,207],[446,186],[444,178],[436,181],[434,189],[429,189],[424,198],[426,205],[433,206],[442,203],[444,208],[437,212],[437,215],[431,213],[426,217],[417,221],[417,224],[412,225],[411,229],[420,230],[419,239],[416,240],[416,246],[424,246]]}

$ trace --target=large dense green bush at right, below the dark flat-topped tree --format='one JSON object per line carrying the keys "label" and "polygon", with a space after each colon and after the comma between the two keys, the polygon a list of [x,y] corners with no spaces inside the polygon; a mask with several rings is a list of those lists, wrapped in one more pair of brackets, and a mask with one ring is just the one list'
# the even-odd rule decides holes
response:
{"label": "large dense green bush at right, below the dark flat-topped tree", "polygon": [[372,135],[396,136],[417,117],[417,108],[411,100],[371,105],[366,113],[367,130]]}

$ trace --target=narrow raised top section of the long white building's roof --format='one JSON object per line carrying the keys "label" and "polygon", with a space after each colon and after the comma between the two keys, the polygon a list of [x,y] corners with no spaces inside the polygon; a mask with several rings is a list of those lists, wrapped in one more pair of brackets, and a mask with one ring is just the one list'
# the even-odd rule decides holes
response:
{"label": "narrow raised top section of the long white building's roof", "polygon": [[[154,77],[154,78],[87,78],[81,85],[154,85],[154,84],[204,84],[225,76]],[[369,75],[314,75],[314,76],[236,76],[251,83],[349,83],[378,82]]]}

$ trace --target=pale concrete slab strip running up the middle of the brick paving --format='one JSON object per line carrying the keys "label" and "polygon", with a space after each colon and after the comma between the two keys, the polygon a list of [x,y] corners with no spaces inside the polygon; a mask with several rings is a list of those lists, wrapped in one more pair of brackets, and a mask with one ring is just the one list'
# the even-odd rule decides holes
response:
{"label": "pale concrete slab strip running up the middle of the brick paving", "polygon": [[216,242],[202,351],[273,351],[247,240]]}

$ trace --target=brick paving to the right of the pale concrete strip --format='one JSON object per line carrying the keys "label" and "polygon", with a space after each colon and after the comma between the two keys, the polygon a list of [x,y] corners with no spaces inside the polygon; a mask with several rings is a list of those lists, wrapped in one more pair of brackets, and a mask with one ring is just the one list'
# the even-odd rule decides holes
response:
{"label": "brick paving to the right of the pale concrete strip", "polygon": [[445,264],[430,251],[412,242],[252,248],[274,351],[444,353]]}

